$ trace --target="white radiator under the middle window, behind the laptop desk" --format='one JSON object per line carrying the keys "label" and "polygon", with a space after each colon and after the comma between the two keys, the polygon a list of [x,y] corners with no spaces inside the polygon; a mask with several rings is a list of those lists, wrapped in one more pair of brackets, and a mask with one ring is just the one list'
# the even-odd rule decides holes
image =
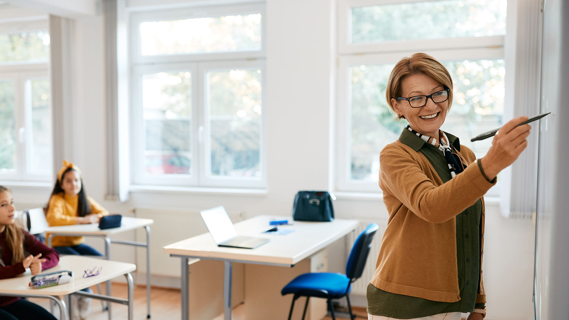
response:
{"label": "white radiator under the middle window, behind the laptop desk", "polygon": [[[201,209],[201,210],[205,210]],[[162,252],[168,244],[208,232],[201,219],[200,210],[159,210],[156,208],[135,208],[137,218],[154,220],[150,226],[150,272],[158,276],[180,276],[180,259]],[[241,211],[228,211],[229,218],[236,223],[243,220]],[[146,241],[146,231],[138,229],[137,241]],[[137,270],[146,273],[146,248],[138,247]]]}

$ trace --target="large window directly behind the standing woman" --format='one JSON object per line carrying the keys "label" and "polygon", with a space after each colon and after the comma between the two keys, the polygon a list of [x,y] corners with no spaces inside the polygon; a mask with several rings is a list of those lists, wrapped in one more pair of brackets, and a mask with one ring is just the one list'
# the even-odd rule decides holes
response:
{"label": "large window directly behind the standing woman", "polygon": [[380,151],[407,125],[394,120],[385,101],[387,78],[404,56],[426,52],[451,73],[454,99],[441,129],[477,156],[492,140],[470,138],[502,125],[506,0],[382,3],[340,3],[339,191],[379,191]]}

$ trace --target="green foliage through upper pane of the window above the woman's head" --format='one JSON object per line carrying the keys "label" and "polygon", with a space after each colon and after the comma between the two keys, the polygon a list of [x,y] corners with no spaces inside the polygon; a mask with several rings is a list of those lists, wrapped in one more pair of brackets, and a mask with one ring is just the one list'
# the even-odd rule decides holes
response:
{"label": "green foliage through upper pane of the window above the woman's head", "polygon": [[506,34],[506,0],[425,1],[352,9],[352,42]]}

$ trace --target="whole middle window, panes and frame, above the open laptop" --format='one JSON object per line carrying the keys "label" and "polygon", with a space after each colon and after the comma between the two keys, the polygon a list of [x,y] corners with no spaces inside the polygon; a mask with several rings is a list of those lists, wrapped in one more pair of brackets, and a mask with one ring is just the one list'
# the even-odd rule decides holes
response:
{"label": "whole middle window, panes and frame, above the open laptop", "polygon": [[261,5],[131,17],[134,184],[266,183]]}

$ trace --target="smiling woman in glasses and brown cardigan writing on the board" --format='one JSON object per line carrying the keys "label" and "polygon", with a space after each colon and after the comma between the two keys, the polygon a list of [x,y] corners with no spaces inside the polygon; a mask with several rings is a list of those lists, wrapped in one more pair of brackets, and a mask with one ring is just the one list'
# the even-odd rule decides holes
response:
{"label": "smiling woman in glasses and brown cardigan writing on the board", "polygon": [[386,99],[409,122],[380,153],[380,181],[389,221],[368,285],[370,320],[483,319],[484,194],[527,145],[518,117],[476,160],[459,139],[442,132],[452,103],[452,79],[429,55],[399,61]]}

